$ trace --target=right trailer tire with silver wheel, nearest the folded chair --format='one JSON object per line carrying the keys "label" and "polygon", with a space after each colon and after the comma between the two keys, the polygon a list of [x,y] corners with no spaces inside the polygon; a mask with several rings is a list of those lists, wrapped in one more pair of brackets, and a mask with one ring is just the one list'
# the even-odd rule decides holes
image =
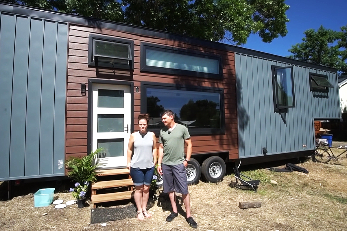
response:
{"label": "right trailer tire with silver wheel, nearest the folded chair", "polygon": [[225,162],[218,156],[207,158],[201,165],[201,174],[209,183],[222,181],[226,171]]}

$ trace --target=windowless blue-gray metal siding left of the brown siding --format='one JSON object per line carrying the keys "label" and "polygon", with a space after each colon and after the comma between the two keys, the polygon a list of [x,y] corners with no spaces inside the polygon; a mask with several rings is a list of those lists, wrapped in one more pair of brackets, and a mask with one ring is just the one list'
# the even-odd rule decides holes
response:
{"label": "windowless blue-gray metal siding left of the brown siding", "polygon": [[0,180],[64,175],[67,32],[0,14]]}

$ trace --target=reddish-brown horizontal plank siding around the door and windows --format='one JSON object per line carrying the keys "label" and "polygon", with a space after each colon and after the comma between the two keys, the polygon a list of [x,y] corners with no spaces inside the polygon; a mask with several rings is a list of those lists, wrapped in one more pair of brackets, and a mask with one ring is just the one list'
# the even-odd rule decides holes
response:
{"label": "reddish-brown horizontal plank siding around the door and windows", "polygon": [[[134,71],[106,70],[88,67],[88,36],[101,34],[134,40]],[[201,52],[217,54],[222,57],[223,80],[178,76],[160,73],[144,73],[140,71],[140,42],[155,43],[179,48],[187,48]],[[141,87],[141,81],[181,83],[204,87],[218,87],[224,89],[225,122],[224,135],[193,135],[193,154],[209,152],[229,152],[229,159],[238,158],[238,131],[236,115],[236,82],[234,53],[223,50],[186,44],[177,41],[168,41],[142,35],[117,32],[109,29],[97,29],[85,26],[70,25],[68,45],[68,77],[67,77],[67,120],[66,120],[66,158],[83,156],[87,154],[87,97],[88,79],[114,79],[133,81],[135,87]],[[81,95],[81,83],[86,83],[87,92]],[[135,131],[137,116],[140,114],[140,92],[134,93]]]}

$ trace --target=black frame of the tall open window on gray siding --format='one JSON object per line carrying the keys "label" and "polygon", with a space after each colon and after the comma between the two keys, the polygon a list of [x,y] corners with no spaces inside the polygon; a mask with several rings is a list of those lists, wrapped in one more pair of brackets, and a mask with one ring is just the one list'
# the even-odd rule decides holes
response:
{"label": "black frame of the tall open window on gray siding", "polygon": [[[290,68],[291,73],[291,84],[292,84],[292,94],[293,94],[293,106],[279,106],[278,105],[278,88],[277,88],[277,70],[279,69],[287,69]],[[274,104],[274,110],[275,112],[283,112],[288,110],[288,108],[294,108],[295,107],[295,89],[294,89],[294,71],[293,66],[277,66],[277,65],[271,65],[271,79],[272,79],[272,92],[273,92],[273,104]]]}

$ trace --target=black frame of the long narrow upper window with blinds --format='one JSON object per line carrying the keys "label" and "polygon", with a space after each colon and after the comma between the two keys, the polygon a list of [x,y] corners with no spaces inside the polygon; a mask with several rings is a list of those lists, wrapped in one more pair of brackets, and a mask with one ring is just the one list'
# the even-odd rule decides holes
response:
{"label": "black frame of the long narrow upper window with blinds", "polygon": [[[218,60],[219,73],[213,74],[213,73],[205,73],[205,72],[198,72],[198,71],[162,68],[158,66],[147,66],[147,57],[146,57],[147,47],[150,47],[152,50],[157,50],[157,51],[184,54],[184,55],[190,55],[195,57],[202,57],[206,59],[212,58],[214,60]],[[171,47],[171,46],[163,46],[163,45],[152,44],[152,43],[144,43],[144,42],[141,42],[140,44],[140,52],[141,52],[140,54],[141,56],[140,71],[141,72],[156,72],[156,73],[165,73],[165,74],[173,74],[173,75],[188,75],[188,76],[207,78],[207,79],[223,79],[222,58],[219,55],[211,55],[211,54],[206,54],[203,52],[197,52],[193,50],[187,50],[187,49]]]}

